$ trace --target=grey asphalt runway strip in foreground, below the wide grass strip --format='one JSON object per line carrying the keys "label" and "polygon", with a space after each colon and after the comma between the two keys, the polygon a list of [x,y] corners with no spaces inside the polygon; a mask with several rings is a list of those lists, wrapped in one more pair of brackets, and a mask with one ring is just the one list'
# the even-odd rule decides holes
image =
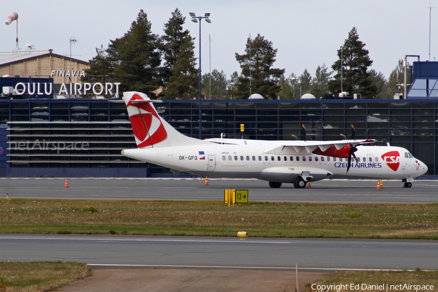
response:
{"label": "grey asphalt runway strip in foreground, below the wide grass strip", "polygon": [[438,269],[438,242],[0,235],[0,261],[246,269]]}

